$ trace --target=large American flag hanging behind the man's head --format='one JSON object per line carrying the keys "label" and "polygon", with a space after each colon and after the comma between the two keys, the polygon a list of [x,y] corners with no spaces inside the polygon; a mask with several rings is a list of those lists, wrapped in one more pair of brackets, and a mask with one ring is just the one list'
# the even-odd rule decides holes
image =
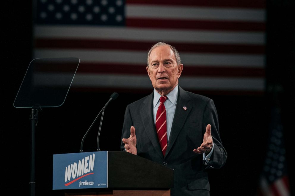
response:
{"label": "large American flag hanging behind the man's head", "polygon": [[148,49],[175,46],[186,90],[264,92],[265,0],[38,0],[34,58],[80,58],[72,87],[152,88]]}

